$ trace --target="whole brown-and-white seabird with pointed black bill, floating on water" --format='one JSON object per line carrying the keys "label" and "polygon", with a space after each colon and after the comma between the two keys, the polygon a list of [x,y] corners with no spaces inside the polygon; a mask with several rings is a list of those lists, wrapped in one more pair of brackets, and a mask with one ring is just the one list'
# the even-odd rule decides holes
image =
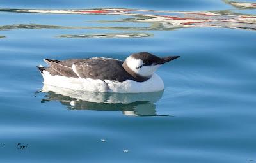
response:
{"label": "whole brown-and-white seabird with pointed black bill, floating on water", "polygon": [[92,92],[156,92],[164,89],[155,73],[161,64],[180,56],[157,57],[148,52],[134,53],[125,61],[92,57],[89,59],[44,59],[49,67],[36,66],[45,85]]}

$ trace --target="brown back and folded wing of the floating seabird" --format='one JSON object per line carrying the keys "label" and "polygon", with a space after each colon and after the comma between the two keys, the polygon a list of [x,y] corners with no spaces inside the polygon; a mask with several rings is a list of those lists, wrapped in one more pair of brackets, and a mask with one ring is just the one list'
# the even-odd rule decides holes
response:
{"label": "brown back and folded wing of the floating seabird", "polygon": [[117,59],[93,57],[90,59],[51,60],[45,59],[50,67],[45,68],[52,76],[91,78],[100,80],[125,81],[134,78],[122,67]]}

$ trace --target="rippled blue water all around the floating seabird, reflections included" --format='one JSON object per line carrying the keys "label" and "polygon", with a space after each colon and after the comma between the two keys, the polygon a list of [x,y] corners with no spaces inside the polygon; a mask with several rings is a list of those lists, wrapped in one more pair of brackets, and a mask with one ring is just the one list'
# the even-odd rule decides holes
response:
{"label": "rippled blue water all around the floating seabird, reflections included", "polygon": [[[0,162],[256,162],[255,8],[0,0]],[[45,87],[35,67],[141,51],[181,56],[163,92]]]}

